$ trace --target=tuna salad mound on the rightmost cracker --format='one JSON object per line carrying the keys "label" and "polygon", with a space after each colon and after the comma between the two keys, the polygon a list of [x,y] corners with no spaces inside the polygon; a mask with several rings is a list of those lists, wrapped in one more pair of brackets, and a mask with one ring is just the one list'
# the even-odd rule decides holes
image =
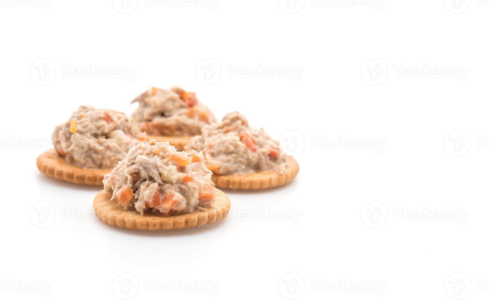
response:
{"label": "tuna salad mound on the rightmost cracker", "polygon": [[255,130],[239,112],[230,112],[222,122],[206,125],[202,135],[192,138],[186,152],[202,152],[207,168],[217,175],[249,174],[274,170],[280,174],[287,168],[287,155],[278,141],[263,129]]}

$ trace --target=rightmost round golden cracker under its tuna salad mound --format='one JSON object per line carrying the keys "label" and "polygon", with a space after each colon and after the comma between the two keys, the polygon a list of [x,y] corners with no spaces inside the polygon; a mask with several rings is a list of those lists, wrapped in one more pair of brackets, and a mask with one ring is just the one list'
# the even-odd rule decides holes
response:
{"label": "rightmost round golden cracker under its tuna salad mound", "polygon": [[299,172],[299,164],[287,156],[287,168],[283,174],[275,171],[261,171],[245,175],[212,175],[212,181],[219,188],[234,190],[268,189],[289,183]]}

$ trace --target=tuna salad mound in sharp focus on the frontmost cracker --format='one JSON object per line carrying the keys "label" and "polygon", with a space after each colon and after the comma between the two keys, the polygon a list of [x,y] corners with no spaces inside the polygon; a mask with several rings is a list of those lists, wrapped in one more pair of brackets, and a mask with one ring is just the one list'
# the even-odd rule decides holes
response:
{"label": "tuna salad mound in sharp focus on the frontmost cracker", "polygon": [[141,216],[193,213],[210,207],[215,200],[212,172],[201,153],[178,152],[168,142],[137,144],[104,177],[104,190],[111,199]]}

